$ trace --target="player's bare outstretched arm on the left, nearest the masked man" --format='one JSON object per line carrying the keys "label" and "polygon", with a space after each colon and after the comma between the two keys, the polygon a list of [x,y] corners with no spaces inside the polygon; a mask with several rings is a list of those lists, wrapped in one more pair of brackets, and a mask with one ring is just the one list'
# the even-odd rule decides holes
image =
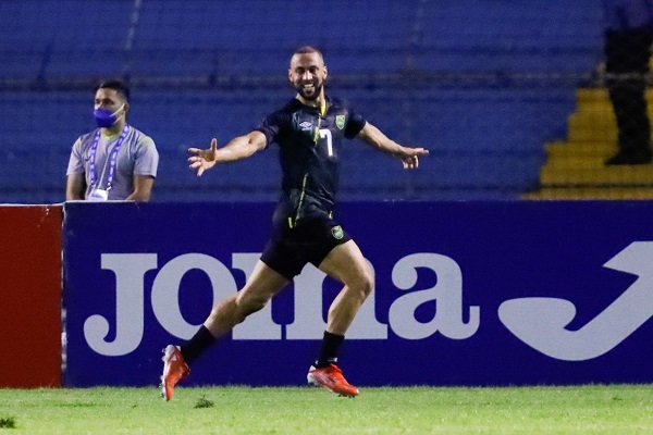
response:
{"label": "player's bare outstretched arm on the left, nearest the masked man", "polygon": [[189,166],[197,171],[197,176],[201,176],[205,171],[210,170],[217,163],[235,162],[236,160],[246,159],[266,148],[267,145],[266,135],[256,130],[245,136],[235,137],[220,149],[218,149],[218,140],[213,138],[208,149],[188,148],[188,152],[192,154],[188,158]]}

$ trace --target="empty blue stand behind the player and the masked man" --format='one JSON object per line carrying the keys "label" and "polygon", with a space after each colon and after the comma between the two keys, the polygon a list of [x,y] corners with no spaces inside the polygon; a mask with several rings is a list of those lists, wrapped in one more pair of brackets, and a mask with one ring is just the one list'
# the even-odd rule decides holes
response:
{"label": "empty blue stand behind the player and the masked man", "polygon": [[323,49],[330,94],[431,150],[407,173],[348,142],[343,199],[519,198],[547,179],[544,144],[565,137],[603,29],[584,0],[25,0],[1,12],[1,202],[63,199],[93,86],[111,76],[130,79],[128,121],[161,154],[155,200],[274,200],[273,147],[201,178],[186,149],[224,145],[292,98],[288,55],[303,44]]}

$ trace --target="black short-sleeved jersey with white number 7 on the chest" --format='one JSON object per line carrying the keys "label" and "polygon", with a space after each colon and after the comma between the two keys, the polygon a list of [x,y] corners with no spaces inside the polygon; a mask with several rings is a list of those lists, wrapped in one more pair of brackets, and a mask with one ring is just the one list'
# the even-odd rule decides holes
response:
{"label": "black short-sleeved jersey with white number 7 on the chest", "polygon": [[294,225],[303,219],[329,215],[338,186],[338,154],[345,138],[365,127],[362,116],[338,99],[326,98],[326,112],[293,99],[256,128],[280,148],[282,198],[276,219]]}

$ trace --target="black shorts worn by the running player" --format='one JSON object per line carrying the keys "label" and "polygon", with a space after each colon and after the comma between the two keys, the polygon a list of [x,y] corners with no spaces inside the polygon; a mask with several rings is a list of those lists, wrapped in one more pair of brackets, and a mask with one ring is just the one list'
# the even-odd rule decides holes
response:
{"label": "black shorts worn by the running player", "polygon": [[326,216],[300,221],[292,228],[279,220],[261,261],[292,281],[306,263],[319,266],[333,248],[349,240],[352,237]]}

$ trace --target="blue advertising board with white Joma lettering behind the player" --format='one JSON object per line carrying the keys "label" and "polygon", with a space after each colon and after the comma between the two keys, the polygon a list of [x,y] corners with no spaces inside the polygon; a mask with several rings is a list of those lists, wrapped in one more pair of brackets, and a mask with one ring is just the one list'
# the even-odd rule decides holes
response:
{"label": "blue advertising board with white Joma lettering behind the player", "polygon": [[[272,203],[64,206],[66,386],[155,385],[241,288]],[[375,290],[341,352],[379,385],[653,382],[653,202],[343,203]],[[338,284],[308,265],[184,385],[303,385]]]}

